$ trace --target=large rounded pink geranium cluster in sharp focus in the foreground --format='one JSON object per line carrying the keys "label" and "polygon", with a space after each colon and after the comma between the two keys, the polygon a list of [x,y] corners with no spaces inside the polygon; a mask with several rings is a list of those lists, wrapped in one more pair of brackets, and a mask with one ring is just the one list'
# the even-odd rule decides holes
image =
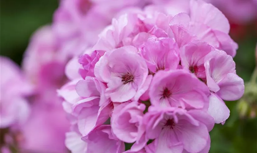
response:
{"label": "large rounded pink geranium cluster in sharp focus in the foreground", "polygon": [[73,153],[209,151],[214,123],[229,118],[223,100],[239,99],[244,81],[226,17],[200,0],[188,5],[175,15],[172,6],[130,9],[67,65],[72,81],[58,94]]}

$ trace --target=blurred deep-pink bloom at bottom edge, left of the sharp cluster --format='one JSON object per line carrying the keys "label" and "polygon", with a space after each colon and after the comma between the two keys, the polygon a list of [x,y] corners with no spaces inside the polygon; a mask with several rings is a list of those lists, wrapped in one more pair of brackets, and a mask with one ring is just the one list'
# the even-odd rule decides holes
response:
{"label": "blurred deep-pink bloom at bottom edge, left of the sharp cluster", "polygon": [[67,151],[65,132],[69,130],[69,121],[59,105],[46,106],[35,103],[28,121],[20,126],[21,139],[18,145],[25,152],[56,152]]}

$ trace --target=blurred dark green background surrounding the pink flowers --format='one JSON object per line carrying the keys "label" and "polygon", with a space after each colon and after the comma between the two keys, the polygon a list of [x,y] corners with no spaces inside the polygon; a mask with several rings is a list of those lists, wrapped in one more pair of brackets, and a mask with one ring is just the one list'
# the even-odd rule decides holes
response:
{"label": "blurred dark green background surrounding the pink flowers", "polygon": [[[1,0],[0,54],[20,64],[30,36],[40,26],[51,23],[57,7],[58,0]],[[231,30],[232,38],[239,44],[234,58],[237,74],[245,82],[255,68],[256,23]],[[237,101],[226,104],[231,110],[230,118],[210,132],[210,153],[257,153],[257,118],[240,117]]]}

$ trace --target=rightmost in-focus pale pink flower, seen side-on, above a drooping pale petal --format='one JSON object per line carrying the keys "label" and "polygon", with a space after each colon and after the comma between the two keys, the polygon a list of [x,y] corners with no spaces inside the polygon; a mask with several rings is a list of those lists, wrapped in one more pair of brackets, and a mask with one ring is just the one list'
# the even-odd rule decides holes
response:
{"label": "rightmost in-focus pale pink flower, seen side-on, above a drooping pale petal", "polygon": [[236,74],[233,58],[222,50],[205,57],[207,86],[224,100],[237,100],[244,94],[244,80]]}

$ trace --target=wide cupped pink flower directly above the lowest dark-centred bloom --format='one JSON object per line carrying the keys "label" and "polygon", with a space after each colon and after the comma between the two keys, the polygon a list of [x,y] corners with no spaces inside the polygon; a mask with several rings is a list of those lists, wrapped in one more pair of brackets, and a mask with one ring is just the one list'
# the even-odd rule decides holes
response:
{"label": "wide cupped pink flower directly above the lowest dark-centred bloom", "polygon": [[151,104],[165,107],[203,108],[209,94],[203,82],[184,70],[159,71],[149,89]]}

